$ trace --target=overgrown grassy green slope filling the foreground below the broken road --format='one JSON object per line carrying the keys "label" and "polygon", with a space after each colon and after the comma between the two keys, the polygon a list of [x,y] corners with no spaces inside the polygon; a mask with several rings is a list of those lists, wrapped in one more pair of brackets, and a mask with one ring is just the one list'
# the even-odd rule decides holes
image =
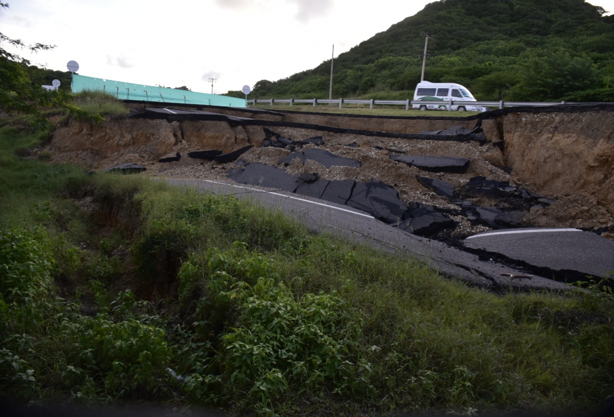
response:
{"label": "overgrown grassy green slope filling the foreground below the broken road", "polygon": [[363,415],[588,411],[614,392],[598,292],[492,294],[248,201],[15,155],[45,137],[0,129],[9,398]]}

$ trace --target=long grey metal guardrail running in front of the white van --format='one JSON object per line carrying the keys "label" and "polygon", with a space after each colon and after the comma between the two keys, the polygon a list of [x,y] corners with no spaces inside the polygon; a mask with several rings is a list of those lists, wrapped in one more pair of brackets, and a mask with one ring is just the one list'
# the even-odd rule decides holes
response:
{"label": "long grey metal guardrail running in front of the white van", "polygon": [[339,108],[343,107],[343,104],[368,104],[370,109],[373,109],[373,106],[377,105],[388,105],[388,106],[405,106],[405,110],[409,110],[413,108],[414,104],[435,104],[438,106],[446,106],[448,107],[448,111],[452,111],[452,106],[461,106],[462,104],[467,106],[484,106],[484,107],[498,107],[499,109],[503,109],[503,107],[518,107],[518,106],[560,106],[561,104],[565,104],[565,101],[418,101],[418,100],[358,100],[351,98],[340,98],[340,99],[324,99],[324,98],[267,98],[267,99],[251,99],[247,100],[248,104],[252,104],[255,106],[256,104],[270,104],[270,106],[274,106],[274,104],[290,104],[293,106],[295,103],[311,103],[313,106],[317,106],[317,104],[339,104]]}

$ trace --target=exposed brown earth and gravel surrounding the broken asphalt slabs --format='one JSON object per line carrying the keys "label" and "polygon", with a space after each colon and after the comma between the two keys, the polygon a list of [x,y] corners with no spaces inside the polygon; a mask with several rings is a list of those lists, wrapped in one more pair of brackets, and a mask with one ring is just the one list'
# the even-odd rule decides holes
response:
{"label": "exposed brown earth and gravel surrounding the broken asphalt slabs", "polygon": [[[218,111],[219,109],[215,109]],[[220,111],[221,112],[221,111]],[[228,109],[227,114],[258,117],[260,125],[241,125],[219,121],[131,119],[114,117],[99,125],[70,121],[56,129],[49,145],[53,160],[70,160],[99,170],[118,163],[139,163],[147,173],[160,176],[224,179],[234,163],[216,163],[187,157],[193,150],[220,149],[231,152],[247,144],[254,145],[242,156],[247,162],[280,166],[292,174],[318,173],[327,179],[352,178],[357,181],[376,179],[393,185],[405,203],[435,205],[458,209],[451,200],[421,185],[416,176],[441,179],[460,189],[471,177],[484,176],[497,181],[522,184],[526,189],[554,200],[554,204],[526,208],[519,225],[538,227],[578,227],[612,238],[614,232],[614,109],[573,109],[558,112],[494,112],[478,120],[449,119],[437,113],[425,118],[373,118],[288,113],[246,114]],[[304,119],[301,119],[304,118]],[[329,150],[362,163],[360,168],[325,168],[317,162],[294,160],[285,167],[279,160],[288,149],[261,147],[267,127],[274,122],[304,120],[328,126],[376,131],[419,133],[454,125],[484,129],[486,144],[475,141],[383,138],[356,133],[331,133],[327,130],[293,125],[269,126],[271,130],[294,140],[320,135],[321,149]],[[287,120],[286,120],[287,119]],[[348,146],[353,145],[353,146]],[[308,145],[307,147],[313,147]],[[169,152],[180,152],[180,161],[158,163]],[[390,156],[406,155],[464,157],[471,160],[467,173],[426,173],[415,166],[392,161]],[[503,168],[503,169],[502,169]],[[511,173],[509,171],[511,170]],[[466,197],[463,197],[466,198]],[[511,209],[505,201],[488,196],[468,198],[475,206]],[[461,238],[487,230],[488,225],[455,216],[459,227],[454,233]]]}

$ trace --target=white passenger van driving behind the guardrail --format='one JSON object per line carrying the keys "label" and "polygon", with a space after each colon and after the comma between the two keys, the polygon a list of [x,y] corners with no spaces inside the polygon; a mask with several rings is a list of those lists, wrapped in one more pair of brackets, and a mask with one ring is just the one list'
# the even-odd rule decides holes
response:
{"label": "white passenger van driving behind the guardrail", "polygon": [[472,93],[463,87],[461,84],[451,82],[428,82],[422,81],[416,85],[414,93],[414,101],[444,101],[441,104],[413,104],[414,109],[420,110],[448,110],[448,101],[454,101],[452,110],[464,112],[482,112],[486,111],[485,107],[475,106],[473,104],[456,104],[458,101],[476,101]]}

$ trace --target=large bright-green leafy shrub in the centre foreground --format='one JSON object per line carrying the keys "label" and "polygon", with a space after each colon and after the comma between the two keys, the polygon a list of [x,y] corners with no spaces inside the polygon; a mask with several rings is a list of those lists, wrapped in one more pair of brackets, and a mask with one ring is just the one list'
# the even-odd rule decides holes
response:
{"label": "large bright-green leafy shrub in the centre foreground", "polygon": [[182,265],[180,290],[189,294],[190,287],[201,286],[190,319],[196,332],[206,335],[219,327],[216,316],[225,321],[219,340],[223,373],[189,375],[190,391],[226,381],[227,395],[247,392],[253,410],[266,413],[279,408],[289,385],[300,387],[298,394],[365,389],[370,366],[352,361],[360,328],[344,301],[335,292],[296,297],[276,270],[271,259],[238,242]]}

